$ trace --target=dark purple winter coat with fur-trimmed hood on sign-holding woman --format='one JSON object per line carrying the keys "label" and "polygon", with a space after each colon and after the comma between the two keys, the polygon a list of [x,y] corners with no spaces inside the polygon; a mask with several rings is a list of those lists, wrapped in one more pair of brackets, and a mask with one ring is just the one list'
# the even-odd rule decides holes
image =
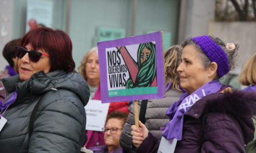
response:
{"label": "dark purple winter coat with fur-trimmed hood on sign-holding woman", "polygon": [[[208,115],[200,145],[205,112]],[[175,153],[197,153],[199,150],[201,153],[245,153],[245,144],[254,137],[251,117],[255,113],[254,93],[234,91],[202,97],[184,114],[182,140],[177,141]],[[149,134],[136,152],[157,152],[158,147],[159,140]]]}

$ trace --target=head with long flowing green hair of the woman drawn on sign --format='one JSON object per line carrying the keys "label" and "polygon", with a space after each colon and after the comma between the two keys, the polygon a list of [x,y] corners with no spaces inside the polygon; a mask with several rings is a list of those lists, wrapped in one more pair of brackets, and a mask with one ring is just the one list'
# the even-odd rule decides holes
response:
{"label": "head with long flowing green hair of the woman drawn on sign", "polygon": [[[147,54],[145,52],[147,52]],[[155,57],[154,43],[140,43],[137,52],[138,74],[134,83],[131,80],[131,77],[127,80],[127,89],[136,87],[148,87],[151,85],[157,74]]]}

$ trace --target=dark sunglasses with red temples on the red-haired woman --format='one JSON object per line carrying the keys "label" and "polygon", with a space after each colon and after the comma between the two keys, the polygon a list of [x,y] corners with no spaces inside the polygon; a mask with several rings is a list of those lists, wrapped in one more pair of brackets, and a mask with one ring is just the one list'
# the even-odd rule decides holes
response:
{"label": "dark sunglasses with red temples on the red-haired woman", "polygon": [[29,60],[32,61],[32,62],[38,62],[42,55],[49,57],[49,54],[44,54],[44,53],[41,53],[41,52],[38,52],[38,51],[35,51],[35,50],[29,51],[29,50],[27,50],[23,47],[20,47],[20,46],[17,46],[15,49],[16,49],[15,54],[16,54],[17,57],[19,57],[19,59],[22,59],[22,57],[26,53],[29,53]]}

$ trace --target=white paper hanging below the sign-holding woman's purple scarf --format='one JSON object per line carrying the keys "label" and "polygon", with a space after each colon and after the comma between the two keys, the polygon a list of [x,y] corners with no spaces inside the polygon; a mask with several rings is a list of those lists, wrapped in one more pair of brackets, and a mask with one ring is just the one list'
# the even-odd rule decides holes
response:
{"label": "white paper hanging below the sign-holding woman's purple scarf", "polygon": [[173,153],[175,151],[176,144],[177,139],[174,138],[172,140],[172,144],[170,144],[169,140],[162,137],[157,153]]}

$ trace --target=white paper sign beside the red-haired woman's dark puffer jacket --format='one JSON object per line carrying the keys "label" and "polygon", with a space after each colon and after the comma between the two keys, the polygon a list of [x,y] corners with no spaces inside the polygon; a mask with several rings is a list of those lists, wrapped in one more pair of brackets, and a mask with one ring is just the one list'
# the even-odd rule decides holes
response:
{"label": "white paper sign beside the red-haired woman's dark puffer jacket", "polygon": [[101,103],[101,100],[89,100],[84,107],[86,109],[86,130],[103,131],[108,115],[109,103]]}

